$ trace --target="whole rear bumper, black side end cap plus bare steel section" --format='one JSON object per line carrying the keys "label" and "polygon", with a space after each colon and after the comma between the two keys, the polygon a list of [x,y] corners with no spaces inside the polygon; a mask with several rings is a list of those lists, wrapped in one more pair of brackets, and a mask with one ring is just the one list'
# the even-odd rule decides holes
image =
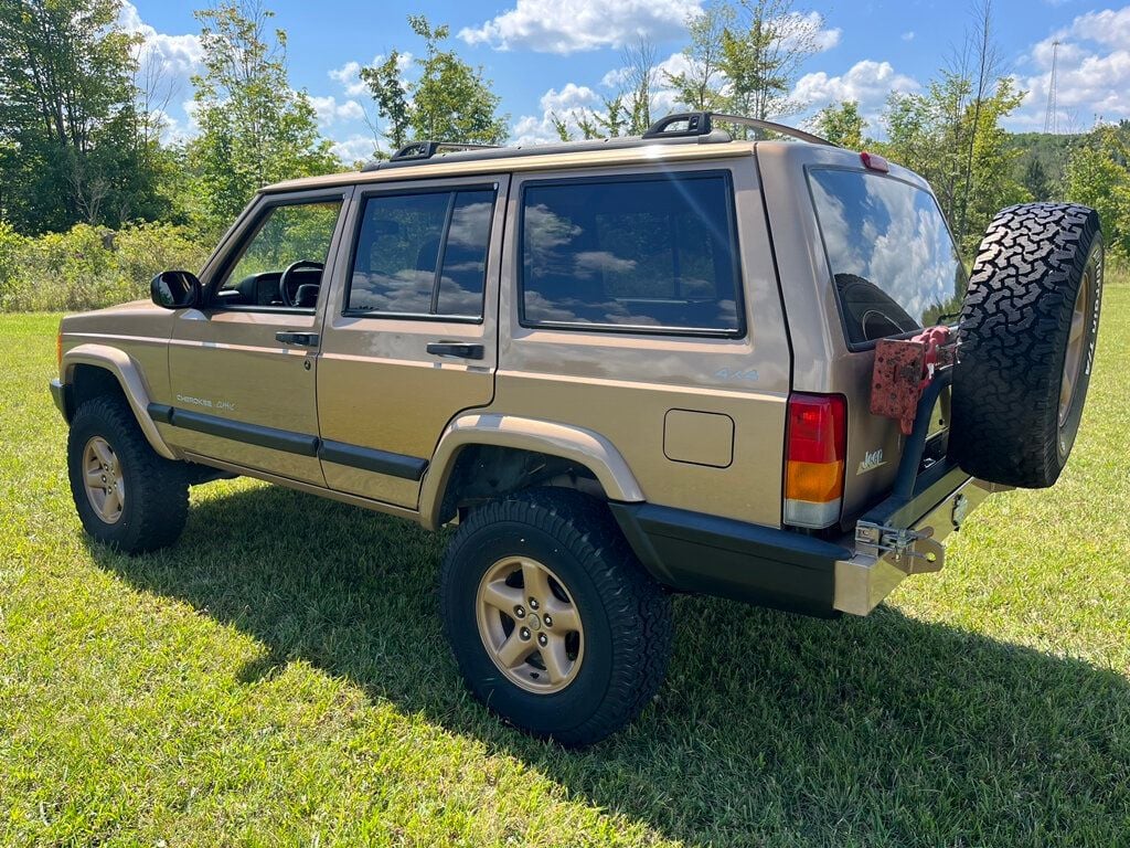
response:
{"label": "whole rear bumper, black side end cap plus bare steel section", "polygon": [[807,615],[867,615],[909,574],[942,566],[941,540],[992,488],[956,468],[933,477],[840,542],[649,503],[611,508],[641,562],[669,588]]}

